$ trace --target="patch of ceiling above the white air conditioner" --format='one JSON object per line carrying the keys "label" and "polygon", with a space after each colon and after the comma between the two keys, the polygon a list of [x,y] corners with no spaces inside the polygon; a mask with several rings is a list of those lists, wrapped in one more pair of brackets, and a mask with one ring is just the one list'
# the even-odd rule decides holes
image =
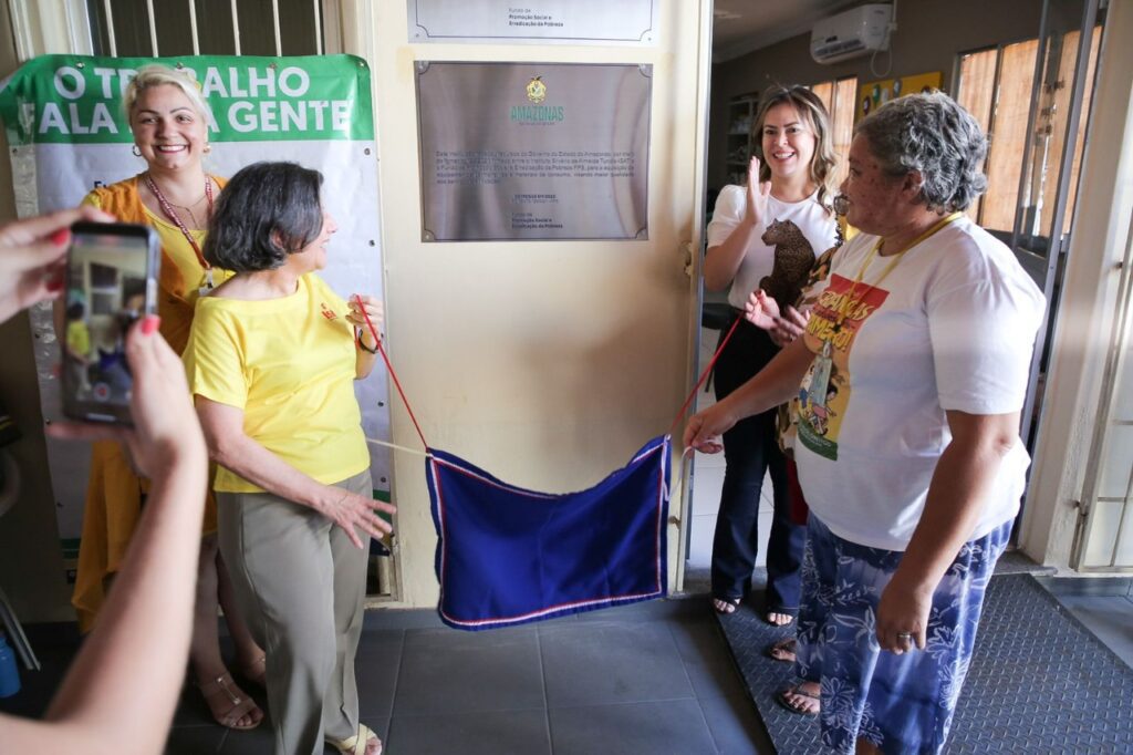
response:
{"label": "patch of ceiling above the white air conditioner", "polygon": [[713,62],[809,32],[819,18],[860,0],[716,0],[713,15]]}

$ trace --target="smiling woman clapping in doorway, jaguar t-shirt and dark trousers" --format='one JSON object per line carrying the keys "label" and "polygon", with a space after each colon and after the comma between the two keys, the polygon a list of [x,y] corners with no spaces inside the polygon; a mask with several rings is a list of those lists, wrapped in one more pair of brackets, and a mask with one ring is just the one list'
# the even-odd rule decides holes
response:
{"label": "smiling woman clapping in doorway, jaguar t-shirt and dark trousers", "polygon": [[[836,240],[837,223],[827,206],[834,149],[821,101],[804,86],[773,86],[760,99],[752,130],[757,142],[748,185],[725,186],[721,192],[708,223],[704,264],[705,288],[727,289],[733,320],[743,317],[748,297],[766,286],[764,281],[783,262],[790,260],[809,271],[815,257]],[[784,308],[791,304],[793,296],[781,303]],[[741,322],[716,363],[717,400],[759,372],[778,350],[766,331]],[[768,622],[785,626],[799,610],[806,528],[791,521],[786,458],[778,447],[775,415],[773,408],[748,417],[724,436],[712,594],[716,611],[731,613],[750,591],[759,542],[759,498],[769,473],[774,515],[761,611]]]}

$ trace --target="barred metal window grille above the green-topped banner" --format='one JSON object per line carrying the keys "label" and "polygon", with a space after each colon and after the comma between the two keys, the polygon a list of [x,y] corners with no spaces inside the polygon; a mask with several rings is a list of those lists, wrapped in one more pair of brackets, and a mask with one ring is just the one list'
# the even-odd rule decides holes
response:
{"label": "barred metal window grille above the green-topped banner", "polygon": [[323,0],[86,0],[94,54],[305,56],[325,50]]}

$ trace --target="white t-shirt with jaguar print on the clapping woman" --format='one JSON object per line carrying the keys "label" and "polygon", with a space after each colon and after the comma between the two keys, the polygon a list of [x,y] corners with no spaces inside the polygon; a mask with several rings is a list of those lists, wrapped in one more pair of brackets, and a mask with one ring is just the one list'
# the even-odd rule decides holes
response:
{"label": "white t-shirt with jaguar print on the clapping woman", "polygon": [[[748,206],[747,193],[746,187],[733,185],[725,186],[721,190],[716,197],[712,222],[708,223],[709,247],[726,241],[743,220]],[[772,274],[775,247],[764,244],[760,237],[767,230],[767,226],[775,221],[793,222],[810,241],[810,249],[816,257],[834,246],[837,223],[834,215],[819,204],[817,192],[802,202],[780,202],[774,196],[768,196],[767,217],[756,228],[751,244],[744,251],[743,261],[735,271],[735,278],[732,279],[732,288],[727,292],[727,303],[738,309],[742,309],[748,296],[759,288],[759,281],[764,275]]]}

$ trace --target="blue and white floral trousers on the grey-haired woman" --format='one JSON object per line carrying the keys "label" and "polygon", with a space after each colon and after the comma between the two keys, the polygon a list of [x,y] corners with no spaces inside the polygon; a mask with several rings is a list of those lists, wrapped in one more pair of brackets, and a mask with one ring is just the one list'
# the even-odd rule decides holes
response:
{"label": "blue and white floral trousers on the grey-haired woman", "polygon": [[964,543],[932,596],[925,650],[896,655],[878,645],[875,618],[902,553],[842,540],[811,512],[796,671],[821,685],[824,745],[853,753],[862,738],[887,754],[940,752],[1011,527]]}

